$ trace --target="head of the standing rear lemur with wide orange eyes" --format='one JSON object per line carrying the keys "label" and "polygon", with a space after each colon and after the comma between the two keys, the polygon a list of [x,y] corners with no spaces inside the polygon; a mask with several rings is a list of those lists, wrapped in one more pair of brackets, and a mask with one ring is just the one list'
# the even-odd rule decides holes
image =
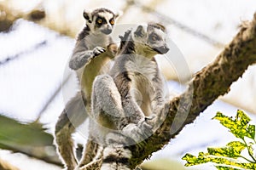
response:
{"label": "head of the standing rear lemur with wide orange eyes", "polygon": [[110,34],[115,20],[119,15],[119,13],[114,14],[108,8],[97,8],[92,12],[84,9],[84,19],[87,21],[86,25],[95,34]]}

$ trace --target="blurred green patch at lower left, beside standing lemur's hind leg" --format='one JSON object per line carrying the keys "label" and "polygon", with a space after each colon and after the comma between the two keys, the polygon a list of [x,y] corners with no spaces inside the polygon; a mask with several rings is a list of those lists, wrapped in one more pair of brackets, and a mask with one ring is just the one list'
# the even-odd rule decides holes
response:
{"label": "blurred green patch at lower left, beside standing lemur's hind leg", "polygon": [[0,114],[0,149],[60,164],[55,153],[53,136],[45,130],[39,122],[21,123]]}

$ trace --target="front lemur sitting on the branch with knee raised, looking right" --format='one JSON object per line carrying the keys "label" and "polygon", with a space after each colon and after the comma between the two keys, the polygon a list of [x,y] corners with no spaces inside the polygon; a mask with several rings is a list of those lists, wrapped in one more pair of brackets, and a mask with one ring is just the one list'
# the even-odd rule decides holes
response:
{"label": "front lemur sitting on the branch with knee raised, looking right", "polygon": [[[121,39],[119,56],[109,75],[98,76],[93,83],[95,122],[90,133],[104,148],[102,157],[95,161],[102,163],[102,170],[130,169],[131,150],[125,146],[151,135],[150,129],[162,116],[160,109],[166,98],[154,59],[155,54],[169,50],[164,26],[138,26],[132,33],[126,31]],[[152,115],[156,116],[148,122],[146,116]],[[90,169],[92,164],[80,169]]]}

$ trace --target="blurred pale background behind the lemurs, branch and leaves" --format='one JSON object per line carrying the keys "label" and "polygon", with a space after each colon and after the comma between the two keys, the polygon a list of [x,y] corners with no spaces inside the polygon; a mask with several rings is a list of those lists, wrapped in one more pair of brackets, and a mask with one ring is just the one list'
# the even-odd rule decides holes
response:
{"label": "blurred pale background behind the lemurs, branch and leaves", "polygon": [[[75,37],[84,27],[84,8],[100,7],[123,11],[119,25],[156,21],[166,26],[178,50],[169,52],[169,62],[159,56],[157,60],[175,96],[183,92],[191,75],[229,44],[243,21],[253,19],[256,1],[0,0],[0,161],[26,170],[61,169],[52,134],[66,102],[61,88],[76,86],[72,71],[64,71]],[[187,152],[197,154],[209,145],[226,144],[233,137],[212,117],[217,111],[235,116],[241,109],[256,120],[255,103],[253,65],[233,83],[229,94],[154,153],[144,169],[214,169],[212,165],[183,167],[181,157]],[[85,141],[79,133],[74,139]]]}

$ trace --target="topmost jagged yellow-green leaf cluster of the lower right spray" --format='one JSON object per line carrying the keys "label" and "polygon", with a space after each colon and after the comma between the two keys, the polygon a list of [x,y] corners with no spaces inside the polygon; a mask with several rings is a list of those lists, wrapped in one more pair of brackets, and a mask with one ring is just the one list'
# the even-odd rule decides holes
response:
{"label": "topmost jagged yellow-green leaf cluster of the lower right spray", "polygon": [[224,116],[221,112],[218,112],[213,119],[217,119],[224,127],[229,128],[230,132],[233,133],[236,138],[255,138],[255,126],[248,124],[251,119],[243,111],[237,111],[235,120],[231,117]]}

